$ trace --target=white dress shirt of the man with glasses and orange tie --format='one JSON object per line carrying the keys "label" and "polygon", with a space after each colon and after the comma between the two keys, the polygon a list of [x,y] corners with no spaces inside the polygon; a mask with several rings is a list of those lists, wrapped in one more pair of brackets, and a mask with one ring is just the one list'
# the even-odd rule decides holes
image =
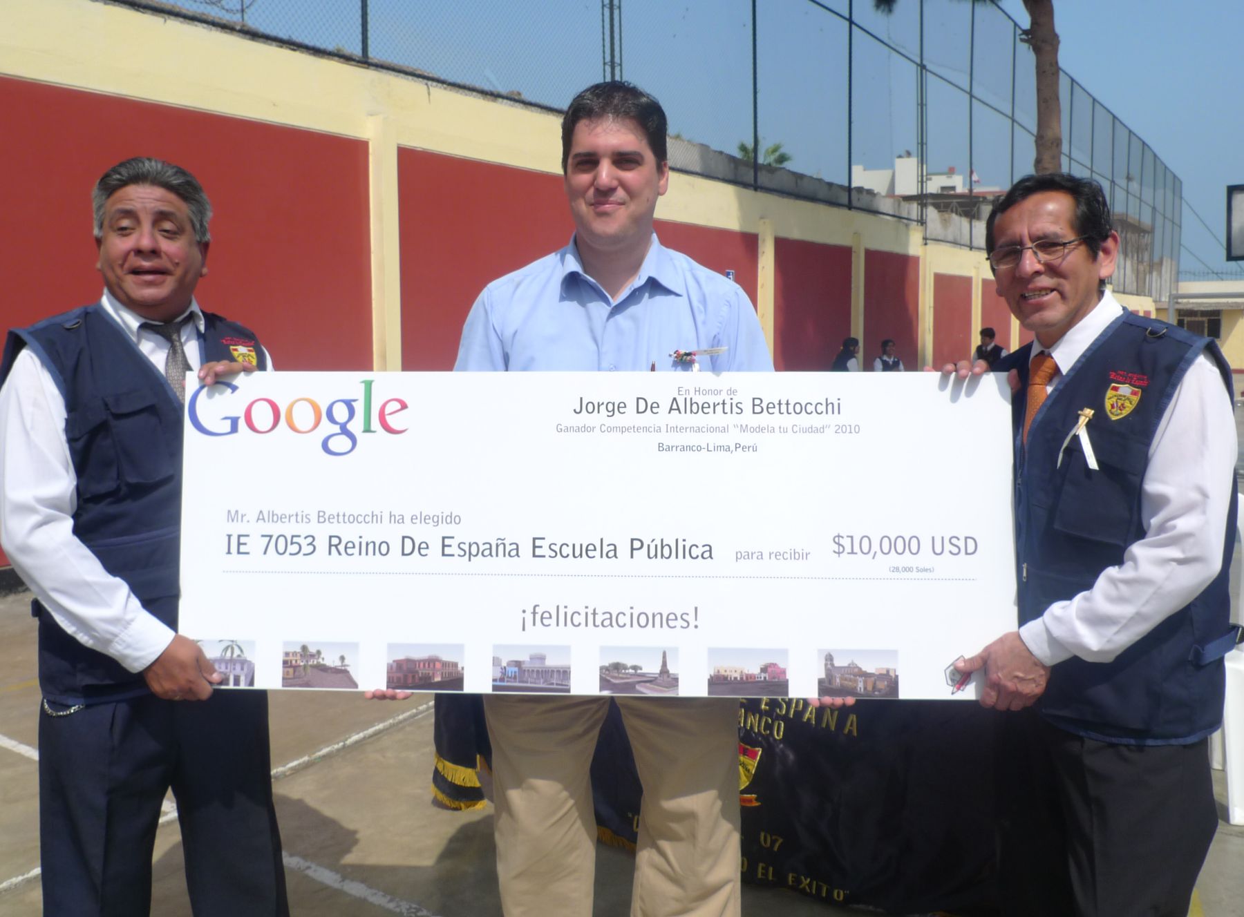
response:
{"label": "white dress shirt of the man with glasses and orange tie", "polygon": [[[1060,374],[1047,390],[1121,308],[1106,292],[1049,348]],[[1039,352],[1034,343],[1033,354]],[[1122,564],[1102,570],[1091,589],[1054,603],[1020,627],[1034,656],[1047,666],[1072,656],[1110,662],[1209,585],[1222,565],[1237,451],[1232,399],[1217,364],[1202,354],[1179,381],[1149,446],[1141,482],[1144,537],[1127,548]]]}

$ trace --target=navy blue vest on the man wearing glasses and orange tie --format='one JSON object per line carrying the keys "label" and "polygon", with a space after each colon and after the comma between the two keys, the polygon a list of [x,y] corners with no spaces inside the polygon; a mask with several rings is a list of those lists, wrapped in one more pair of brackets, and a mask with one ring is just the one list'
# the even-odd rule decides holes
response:
{"label": "navy blue vest on the man wearing glasses and orange tie", "polygon": [[[1026,386],[1031,347],[1004,357],[995,368],[1015,368]],[[1125,312],[1059,380],[1033,419],[1026,446],[1019,436],[1025,400],[1014,399],[1020,624],[1091,588],[1103,569],[1121,564],[1127,547],[1144,537],[1141,482],[1149,446],[1176,386],[1202,353],[1218,364],[1230,398],[1230,369],[1217,344]],[[1088,467],[1079,437],[1062,446],[1082,408],[1095,411],[1087,431],[1097,471]],[[1228,594],[1234,472],[1219,483],[1230,487],[1232,500],[1215,579],[1113,661],[1072,657],[1055,665],[1037,701],[1052,724],[1126,744],[1188,743],[1218,728],[1223,656],[1235,634]]]}

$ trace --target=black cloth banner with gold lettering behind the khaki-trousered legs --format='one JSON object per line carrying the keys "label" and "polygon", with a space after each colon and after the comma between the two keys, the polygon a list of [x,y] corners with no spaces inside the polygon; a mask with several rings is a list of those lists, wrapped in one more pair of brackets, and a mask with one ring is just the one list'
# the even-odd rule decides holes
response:
{"label": "black cloth banner with gold lettering behind the khaki-trousered legs", "polygon": [[[437,697],[433,793],[454,808],[483,804],[474,778],[489,757],[481,708],[479,696]],[[995,716],[950,701],[837,711],[799,698],[741,701],[744,881],[896,915],[996,913]],[[601,839],[633,849],[639,778],[612,705],[592,789]]]}

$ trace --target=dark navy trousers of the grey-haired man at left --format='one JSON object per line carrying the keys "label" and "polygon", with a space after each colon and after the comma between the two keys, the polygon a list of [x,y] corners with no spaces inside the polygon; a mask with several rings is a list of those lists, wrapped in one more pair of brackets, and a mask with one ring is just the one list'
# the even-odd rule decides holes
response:
{"label": "dark navy trousers of the grey-haired man at left", "polygon": [[40,712],[44,913],[149,913],[156,826],[172,788],[195,917],[286,917],[270,774],[261,691]]}

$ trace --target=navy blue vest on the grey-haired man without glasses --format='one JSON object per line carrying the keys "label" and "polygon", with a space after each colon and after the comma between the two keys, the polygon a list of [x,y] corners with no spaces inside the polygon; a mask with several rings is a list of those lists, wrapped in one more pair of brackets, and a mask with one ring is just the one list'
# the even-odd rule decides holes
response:
{"label": "navy blue vest on the grey-haired man without glasses", "polygon": [[[200,355],[231,360],[230,345],[262,348],[240,324],[204,312]],[[182,524],[182,413],[164,374],[98,304],[9,332],[0,385],[29,347],[65,398],[65,440],[77,475],[73,534],[143,608],[177,629]],[[39,681],[63,705],[133,697],[142,675],[70,636],[37,600]]]}

